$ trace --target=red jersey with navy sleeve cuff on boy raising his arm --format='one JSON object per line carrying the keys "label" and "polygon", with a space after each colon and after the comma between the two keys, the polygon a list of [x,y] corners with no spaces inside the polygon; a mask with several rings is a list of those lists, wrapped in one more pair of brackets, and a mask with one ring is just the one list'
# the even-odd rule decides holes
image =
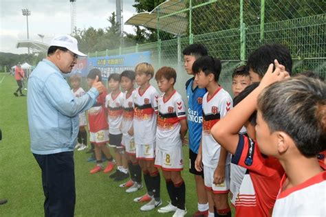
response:
{"label": "red jersey with navy sleeve cuff on boy raising his arm", "polygon": [[281,163],[263,155],[246,135],[239,135],[232,163],[248,169],[235,201],[236,216],[271,216],[284,174]]}

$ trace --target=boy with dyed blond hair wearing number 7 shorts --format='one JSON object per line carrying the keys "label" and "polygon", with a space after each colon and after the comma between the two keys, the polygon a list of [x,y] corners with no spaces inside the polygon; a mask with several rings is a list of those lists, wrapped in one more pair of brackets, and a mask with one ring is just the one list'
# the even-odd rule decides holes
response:
{"label": "boy with dyed blond hair wearing number 7 shorts", "polygon": [[135,67],[135,81],[139,87],[135,90],[133,97],[135,106],[133,132],[136,158],[144,174],[147,194],[135,198],[133,201],[149,201],[149,203],[140,208],[142,211],[149,211],[162,205],[160,198],[160,172],[154,167],[158,93],[149,84],[149,80],[153,76],[154,68],[151,64],[142,62]]}

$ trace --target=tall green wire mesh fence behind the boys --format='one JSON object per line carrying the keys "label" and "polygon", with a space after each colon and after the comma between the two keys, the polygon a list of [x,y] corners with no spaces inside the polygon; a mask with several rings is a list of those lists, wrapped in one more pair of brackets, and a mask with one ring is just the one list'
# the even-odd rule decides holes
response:
{"label": "tall green wire mesh fence behind the boys", "polygon": [[[311,70],[325,78],[325,12],[323,0],[171,0],[156,9],[157,42],[89,56],[151,51],[155,69],[169,65],[180,72],[182,50],[202,43],[211,56],[222,60],[220,82],[229,90],[232,70],[244,64],[252,50],[281,43],[291,51],[294,73]],[[188,78],[179,74],[182,80]],[[183,84],[177,85],[184,89]]]}

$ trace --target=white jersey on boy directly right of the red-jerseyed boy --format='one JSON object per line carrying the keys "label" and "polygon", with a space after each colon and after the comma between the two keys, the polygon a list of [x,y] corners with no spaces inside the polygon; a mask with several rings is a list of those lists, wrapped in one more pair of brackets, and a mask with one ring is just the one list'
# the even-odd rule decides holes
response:
{"label": "white jersey on boy directly right of the red-jerseyed boy", "polygon": [[107,107],[107,122],[109,123],[109,133],[113,135],[121,134],[120,126],[122,122],[122,103],[123,93],[119,91],[117,95],[109,93],[105,98],[105,107]]}

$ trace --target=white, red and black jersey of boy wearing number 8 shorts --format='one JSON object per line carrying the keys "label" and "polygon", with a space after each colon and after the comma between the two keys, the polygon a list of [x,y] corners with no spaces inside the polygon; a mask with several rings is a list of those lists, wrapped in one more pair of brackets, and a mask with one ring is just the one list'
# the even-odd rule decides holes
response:
{"label": "white, red and black jersey of boy wearing number 8 shorts", "polygon": [[160,150],[174,150],[182,146],[180,120],[186,119],[186,108],[182,96],[174,91],[169,99],[158,98],[156,147]]}

